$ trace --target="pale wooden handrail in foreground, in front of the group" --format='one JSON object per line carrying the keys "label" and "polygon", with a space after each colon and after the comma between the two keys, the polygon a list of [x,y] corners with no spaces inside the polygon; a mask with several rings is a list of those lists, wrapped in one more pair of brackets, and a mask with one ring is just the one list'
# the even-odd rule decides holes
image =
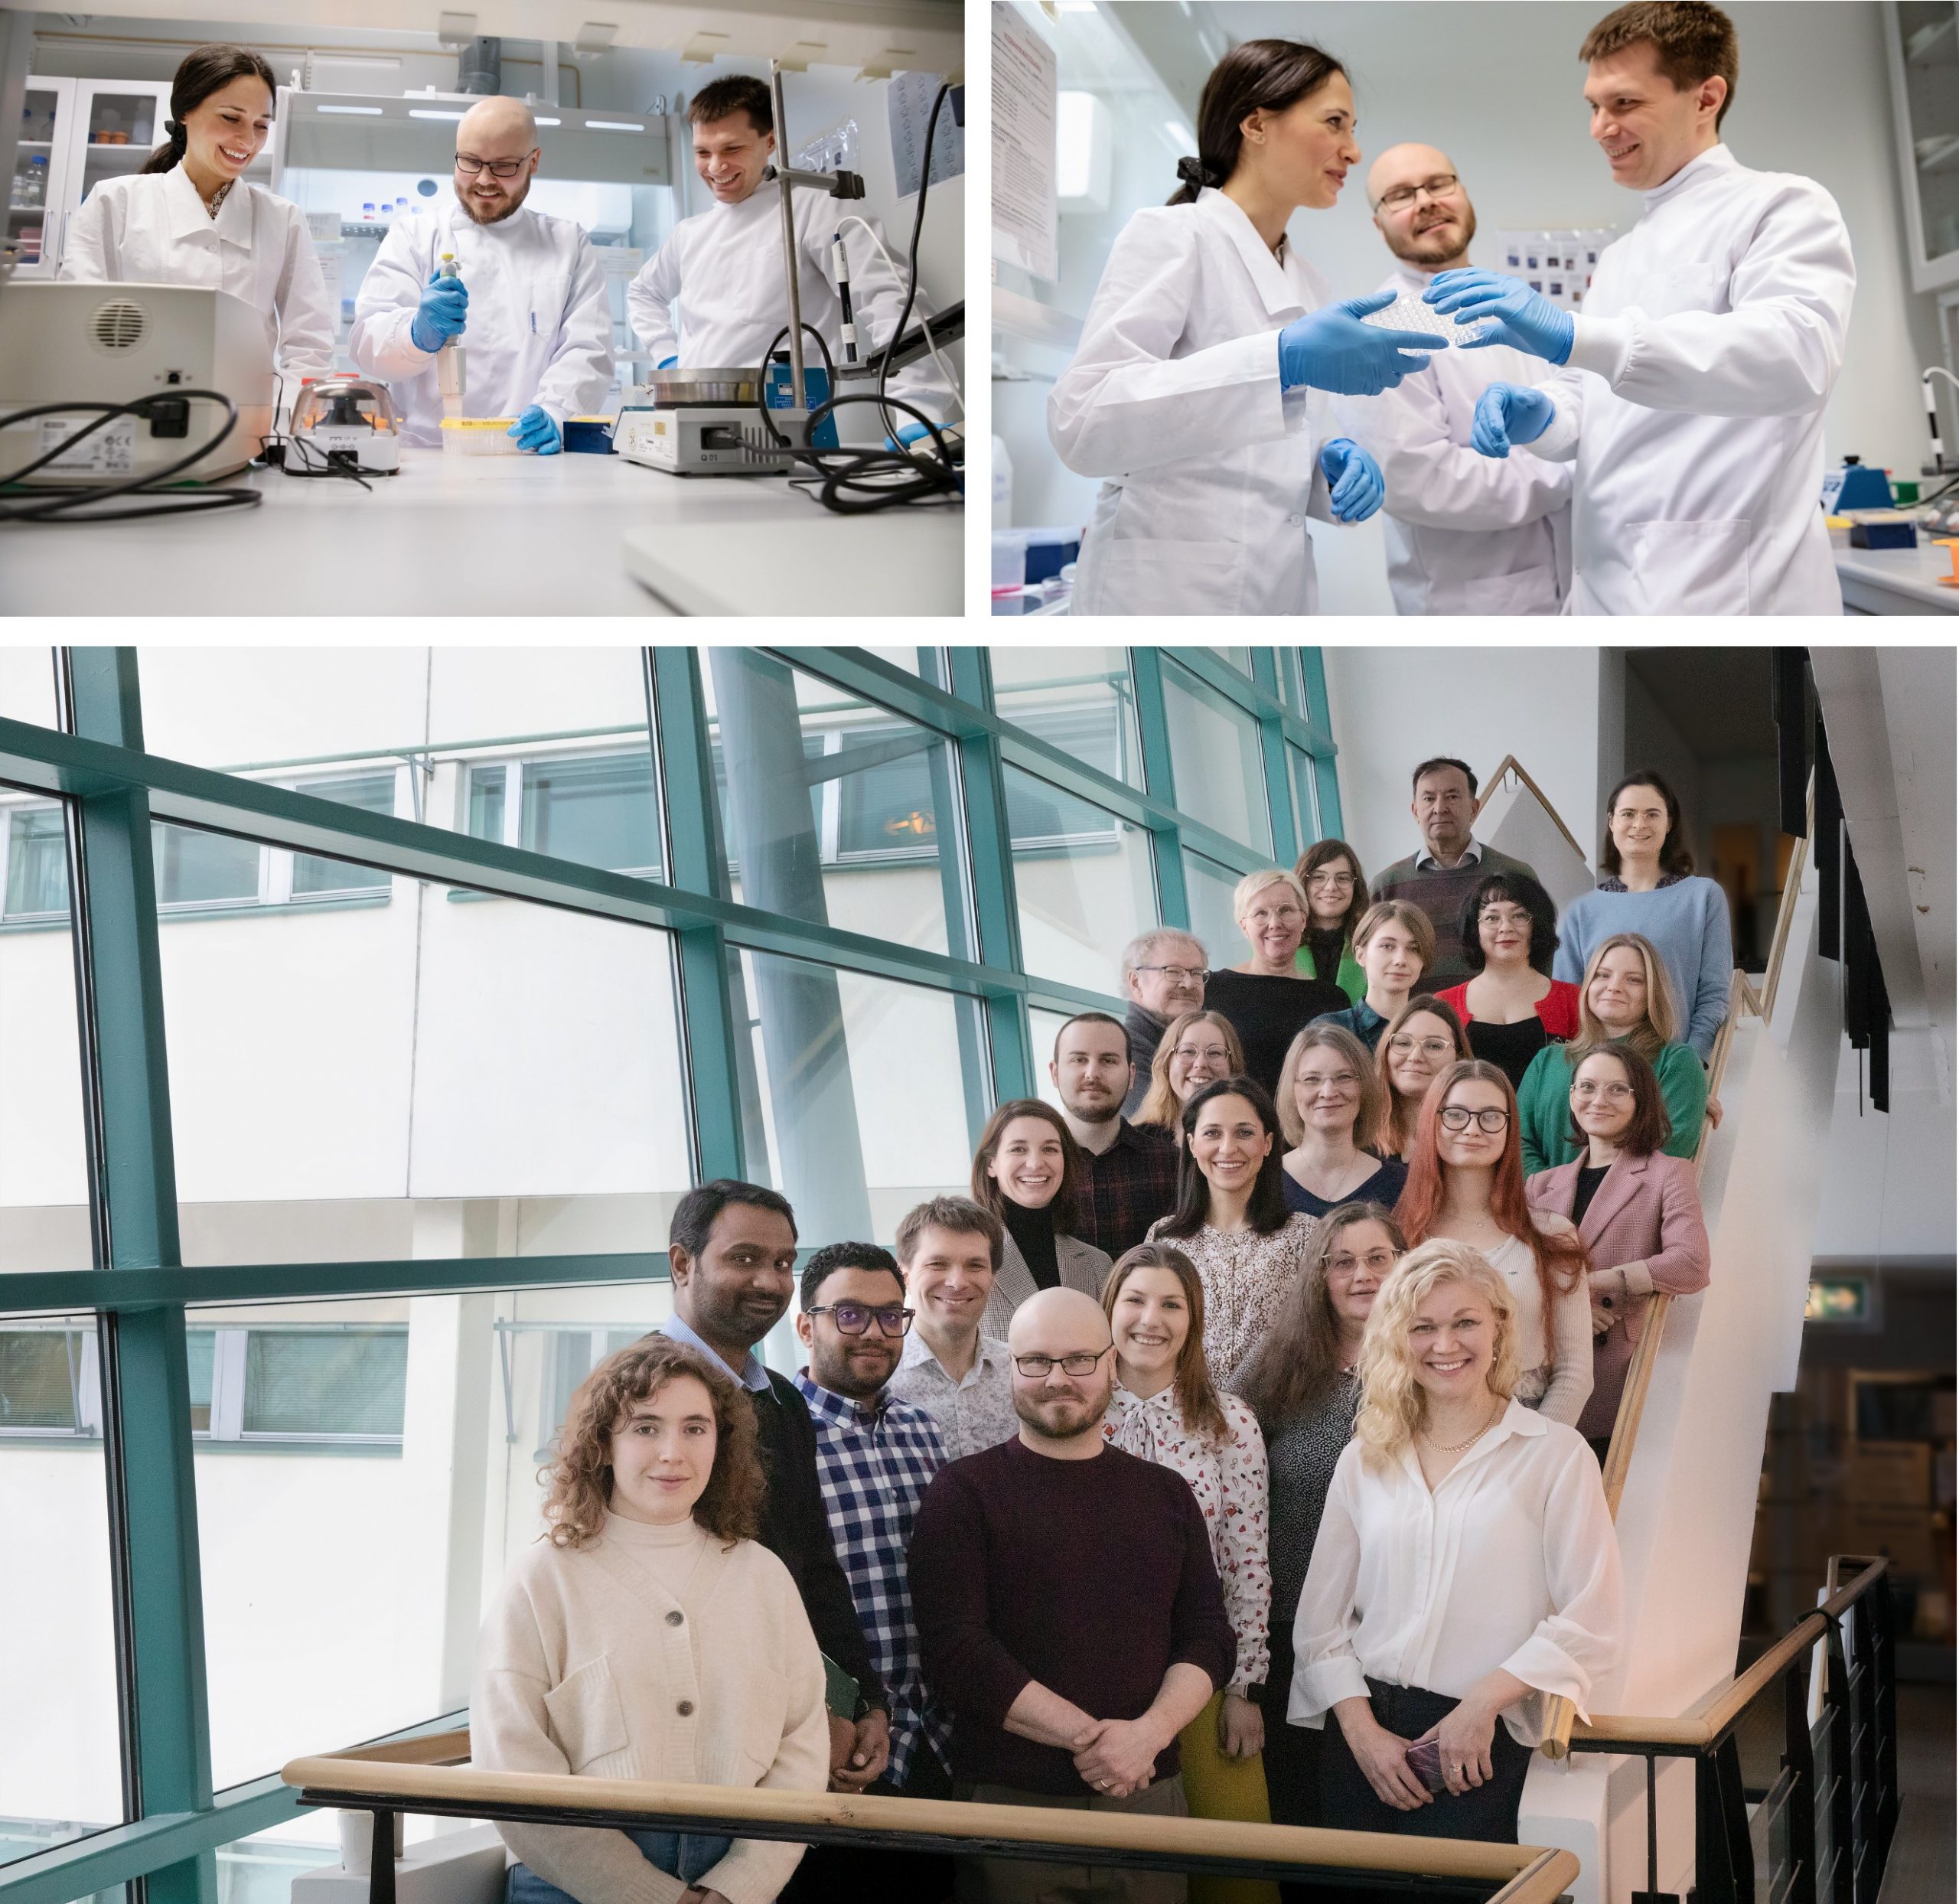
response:
{"label": "pale wooden handrail in foreground, in front of the group", "polygon": [[[445,1743],[468,1734],[445,1734]],[[423,1741],[409,1741],[423,1743]],[[1397,1837],[1379,1832],[1324,1832],[1305,1826],[1234,1824],[1217,1818],[1152,1818],[1136,1812],[1074,1812],[1021,1804],[960,1804],[944,1798],[876,1798],[852,1792],[789,1792],[731,1785],[662,1785],[639,1779],[578,1779],[549,1773],[494,1773],[456,1765],[413,1765],[394,1747],[355,1747],[294,1759],[280,1779],[308,1802],[343,1810],[413,1812],[417,1800],[445,1812],[496,1816],[545,1808],[621,1816],[715,1820],[742,1826],[862,1828],[913,1837],[1019,1841],[1075,1851],[1158,1851],[1168,1857],[1238,1859],[1273,1865],[1332,1865],[1397,1877],[1446,1877],[1503,1884],[1506,1904],[1550,1904],[1577,1875],[1569,1851],[1493,1845],[1454,1837]],[[950,1847],[948,1847],[950,1849]],[[1559,1882],[1552,1884],[1552,1877]]]}

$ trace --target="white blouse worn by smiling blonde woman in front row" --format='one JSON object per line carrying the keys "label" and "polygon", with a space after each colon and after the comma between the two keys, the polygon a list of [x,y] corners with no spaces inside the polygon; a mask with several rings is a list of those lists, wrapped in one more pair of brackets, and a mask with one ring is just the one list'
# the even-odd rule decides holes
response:
{"label": "white blouse worn by smiling blonde woman in front row", "polygon": [[1360,1442],[1340,1455],[1293,1622],[1287,1718],[1318,1730],[1369,1679],[1459,1698],[1501,1667],[1536,1689],[1503,1714],[1536,1745],[1544,1696],[1583,1714],[1622,1632],[1599,1461],[1575,1428],[1512,1401],[1434,1493],[1412,1446],[1395,1461]]}

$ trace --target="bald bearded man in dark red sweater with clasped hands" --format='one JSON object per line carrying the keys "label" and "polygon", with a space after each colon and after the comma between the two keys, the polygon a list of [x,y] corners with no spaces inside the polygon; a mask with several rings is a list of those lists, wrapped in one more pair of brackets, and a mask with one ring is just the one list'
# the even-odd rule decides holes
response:
{"label": "bald bearded man in dark red sweater with clasped hands", "polygon": [[[952,1461],[911,1534],[925,1683],[952,1712],[952,1777],[980,1804],[1185,1816],[1177,1734],[1228,1685],[1236,1640],[1189,1483],[1103,1442],[1115,1348],[1101,1307],[1044,1289],[1009,1332],[1011,1442]],[[1066,1888],[1181,1904],[1160,1871],[978,1859],[987,1904]]]}

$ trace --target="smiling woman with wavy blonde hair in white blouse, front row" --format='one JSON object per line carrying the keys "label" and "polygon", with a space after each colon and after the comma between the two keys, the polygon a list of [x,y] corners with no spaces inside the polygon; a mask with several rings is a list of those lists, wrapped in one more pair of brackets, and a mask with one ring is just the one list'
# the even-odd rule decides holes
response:
{"label": "smiling woman with wavy blonde hair in white blouse, front row", "polygon": [[1599,1463],[1518,1403],[1518,1359],[1510,1289],[1473,1248],[1438,1238],[1389,1271],[1293,1632],[1289,1718],[1326,1732],[1328,1824],[1514,1843],[1546,1698],[1585,1712],[1618,1657]]}

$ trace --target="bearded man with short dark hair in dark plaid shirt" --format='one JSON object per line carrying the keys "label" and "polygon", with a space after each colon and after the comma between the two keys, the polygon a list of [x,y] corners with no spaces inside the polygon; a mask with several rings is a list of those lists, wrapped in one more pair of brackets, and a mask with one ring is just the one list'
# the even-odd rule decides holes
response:
{"label": "bearded man with short dark hair in dark plaid shirt", "polygon": [[1075,1209],[1075,1234],[1111,1260],[1134,1250],[1177,1203],[1177,1140],[1123,1117],[1130,1071],[1128,1032],[1105,1011],[1075,1013],[1054,1034],[1048,1077],[1081,1146],[1087,1191]]}

